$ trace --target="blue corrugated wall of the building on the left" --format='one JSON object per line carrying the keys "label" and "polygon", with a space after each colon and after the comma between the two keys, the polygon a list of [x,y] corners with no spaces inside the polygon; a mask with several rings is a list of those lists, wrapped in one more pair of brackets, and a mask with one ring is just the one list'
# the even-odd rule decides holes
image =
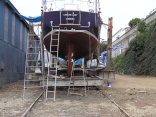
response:
{"label": "blue corrugated wall of the building on the left", "polygon": [[0,0],[0,86],[23,79],[25,71],[28,27],[10,4]]}

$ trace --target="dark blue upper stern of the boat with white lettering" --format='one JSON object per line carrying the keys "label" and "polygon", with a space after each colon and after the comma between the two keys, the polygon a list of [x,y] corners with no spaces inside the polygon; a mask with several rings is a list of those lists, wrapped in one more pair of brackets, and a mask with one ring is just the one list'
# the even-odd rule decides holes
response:
{"label": "dark blue upper stern of the boat with white lettering", "polygon": [[[84,11],[50,11],[44,12],[42,16],[42,36],[44,37],[53,29],[88,30],[98,37],[98,15],[97,13]],[[66,24],[66,26],[61,26]],[[77,27],[68,27],[68,24],[79,25]]]}

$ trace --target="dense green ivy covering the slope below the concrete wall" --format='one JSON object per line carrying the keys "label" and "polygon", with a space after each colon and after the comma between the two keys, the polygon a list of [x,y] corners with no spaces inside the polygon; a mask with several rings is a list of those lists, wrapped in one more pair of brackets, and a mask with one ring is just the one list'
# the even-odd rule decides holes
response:
{"label": "dense green ivy covering the slope below the concrete wall", "polygon": [[125,74],[156,76],[156,21],[140,32],[125,53],[112,60],[112,68],[123,69]]}

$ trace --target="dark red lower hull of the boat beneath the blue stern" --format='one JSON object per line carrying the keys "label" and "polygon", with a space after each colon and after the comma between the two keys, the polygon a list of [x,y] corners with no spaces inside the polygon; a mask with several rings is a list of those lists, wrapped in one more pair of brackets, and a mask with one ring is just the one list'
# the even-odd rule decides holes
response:
{"label": "dark red lower hull of the boat beneath the blue stern", "polygon": [[[50,42],[51,42],[51,34],[52,43],[57,44],[57,41],[54,39],[58,38],[59,30],[54,30],[53,32],[49,32],[44,38],[45,48],[50,51]],[[89,54],[91,54],[97,48],[97,38],[86,30],[60,30],[59,36],[59,52],[58,56],[64,59],[67,59],[68,55],[68,45],[72,45],[72,53],[73,59],[77,60],[79,58],[83,58]],[[56,51],[57,47],[52,46],[52,51]],[[52,52],[51,54],[56,55],[56,52]]]}

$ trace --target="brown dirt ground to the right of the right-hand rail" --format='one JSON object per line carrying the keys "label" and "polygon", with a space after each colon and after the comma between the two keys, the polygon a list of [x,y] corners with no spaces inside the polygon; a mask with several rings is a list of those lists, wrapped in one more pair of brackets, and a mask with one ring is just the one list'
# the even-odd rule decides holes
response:
{"label": "brown dirt ground to the right of the right-hand rail", "polygon": [[156,78],[116,74],[103,92],[132,117],[156,117]]}

